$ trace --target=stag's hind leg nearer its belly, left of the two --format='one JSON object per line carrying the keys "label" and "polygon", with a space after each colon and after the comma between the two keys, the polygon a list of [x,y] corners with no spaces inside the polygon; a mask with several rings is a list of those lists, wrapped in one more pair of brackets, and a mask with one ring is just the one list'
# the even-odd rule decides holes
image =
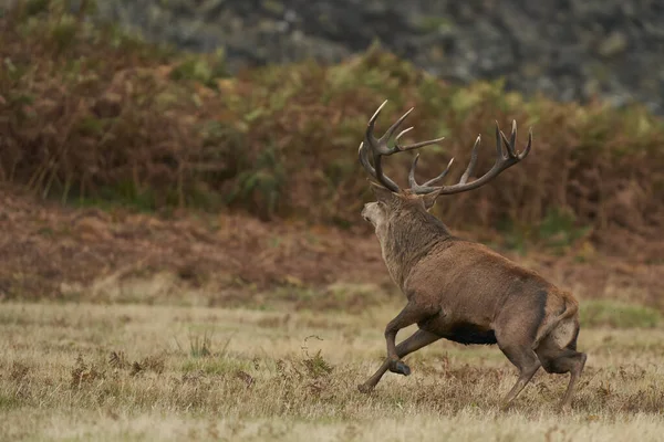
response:
{"label": "stag's hind leg nearer its belly, left of the two", "polygon": [[530,382],[541,364],[531,348],[530,339],[525,338],[519,332],[497,333],[496,338],[500,350],[519,369],[519,379],[502,399],[501,409],[506,410]]}

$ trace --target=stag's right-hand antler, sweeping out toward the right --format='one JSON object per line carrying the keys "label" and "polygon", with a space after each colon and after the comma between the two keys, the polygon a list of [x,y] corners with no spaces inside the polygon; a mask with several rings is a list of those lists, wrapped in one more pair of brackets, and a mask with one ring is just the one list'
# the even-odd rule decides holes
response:
{"label": "stag's right-hand antler, sweeping out toward the right", "polygon": [[[468,178],[473,175],[475,165],[477,162],[477,150],[478,150],[480,141],[481,141],[481,136],[478,136],[477,139],[475,140],[475,145],[473,145],[473,151],[470,154],[470,161],[468,162],[468,167],[466,168],[466,171],[459,179],[459,182],[454,186],[435,186],[435,187],[432,186],[435,182],[443,179],[447,175],[447,172],[449,171],[449,166],[452,166],[452,161],[449,161],[449,165],[447,165],[447,168],[438,177],[436,177],[432,180],[428,180],[427,182],[425,182],[423,185],[418,185],[415,181],[415,167],[417,166],[417,159],[419,157],[419,155],[417,155],[415,157],[415,159],[413,160],[413,166],[411,166],[411,172],[408,173],[411,191],[413,193],[417,193],[417,194],[426,194],[426,193],[432,193],[432,192],[438,192],[438,194],[453,194],[453,193],[465,192],[467,190],[477,189],[478,187],[484,186],[487,182],[489,182],[491,179],[496,178],[504,170],[510,168],[511,166],[516,165],[517,162],[519,162],[523,158],[526,158],[526,156],[530,151],[530,148],[532,147],[532,128],[528,131],[528,145],[526,146],[523,151],[520,154],[517,154],[517,149],[515,147],[516,140],[517,140],[517,122],[516,120],[512,120],[512,130],[511,130],[509,140],[507,139],[507,137],[505,136],[502,130],[500,130],[500,127],[498,127],[498,122],[496,122],[496,162],[494,164],[491,169],[489,169],[489,171],[486,172],[485,175],[483,175],[480,178],[478,178],[474,181],[467,182]],[[507,151],[502,150],[501,141],[502,141],[502,144],[505,144]],[[454,160],[454,158],[453,158],[453,160]]]}

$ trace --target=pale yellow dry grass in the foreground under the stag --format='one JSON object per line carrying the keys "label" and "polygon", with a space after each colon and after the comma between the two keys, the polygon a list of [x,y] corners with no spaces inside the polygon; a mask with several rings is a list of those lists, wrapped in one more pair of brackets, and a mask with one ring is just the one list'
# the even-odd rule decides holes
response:
{"label": "pale yellow dry grass in the foreground under the stag", "polygon": [[573,410],[554,410],[567,377],[539,372],[502,413],[516,370],[496,347],[442,341],[357,392],[396,308],[0,304],[0,439],[661,440],[660,327],[585,327]]}

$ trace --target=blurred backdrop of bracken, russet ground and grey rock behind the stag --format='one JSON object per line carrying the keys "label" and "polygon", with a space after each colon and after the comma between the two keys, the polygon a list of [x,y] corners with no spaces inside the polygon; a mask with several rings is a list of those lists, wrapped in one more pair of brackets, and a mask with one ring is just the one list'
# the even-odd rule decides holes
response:
{"label": "blurred backdrop of bracken, russet ground and grey rock behind the stag", "polygon": [[583,298],[664,305],[657,1],[0,4],[4,298],[391,296],[356,161],[390,99],[380,127],[415,106],[409,137],[446,137],[421,177],[496,120],[533,128],[527,161],[437,203],[453,230]]}

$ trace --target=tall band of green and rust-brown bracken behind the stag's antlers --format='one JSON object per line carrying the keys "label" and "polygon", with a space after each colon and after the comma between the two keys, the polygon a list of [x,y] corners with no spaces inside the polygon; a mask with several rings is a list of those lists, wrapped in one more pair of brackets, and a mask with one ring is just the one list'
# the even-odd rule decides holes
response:
{"label": "tall band of green and rust-brown bracken behind the stag's antlers", "polygon": [[[500,81],[452,86],[377,46],[333,66],[229,77],[221,52],[149,45],[58,1],[22,4],[0,19],[0,180],[42,198],[229,208],[351,228],[371,198],[356,148],[388,98],[378,130],[415,106],[413,137],[447,137],[423,151],[421,178],[454,156],[457,179],[478,133],[486,170],[494,120],[516,119],[520,143],[533,127],[522,165],[439,201],[435,211],[450,225],[500,228],[516,232],[508,245],[539,241],[556,251],[591,230],[662,225],[664,123],[642,107],[526,99]],[[391,157],[387,173],[404,182],[411,159]]]}

